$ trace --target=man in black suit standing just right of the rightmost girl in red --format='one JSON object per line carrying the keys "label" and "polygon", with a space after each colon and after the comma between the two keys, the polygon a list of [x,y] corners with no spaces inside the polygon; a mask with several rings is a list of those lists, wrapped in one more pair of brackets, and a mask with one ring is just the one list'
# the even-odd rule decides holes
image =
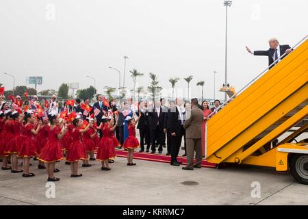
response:
{"label": "man in black suit standing just right of the rightmost girl in red", "polygon": [[140,151],[139,152],[144,152],[144,141],[146,142],[146,151],[149,151],[150,149],[150,142],[148,138],[149,124],[147,123],[149,112],[144,107],[144,101],[140,101],[139,106],[140,106],[139,107],[140,109],[136,112],[136,115],[139,115],[139,112],[141,113],[141,117],[137,125],[137,129],[139,129],[139,133],[140,133]]}

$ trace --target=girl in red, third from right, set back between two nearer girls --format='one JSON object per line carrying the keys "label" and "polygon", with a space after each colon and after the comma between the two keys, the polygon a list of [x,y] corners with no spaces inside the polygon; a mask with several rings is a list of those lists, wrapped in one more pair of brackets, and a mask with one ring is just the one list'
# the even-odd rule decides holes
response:
{"label": "girl in red, third from right, set back between two nearer girls", "polygon": [[[94,121],[93,118],[86,118],[87,121],[90,123]],[[95,150],[95,142],[94,138],[97,136],[97,131],[94,129],[94,127],[90,127],[88,131],[86,131],[83,135],[83,141],[84,141],[84,146],[85,146],[85,153],[86,153],[86,159],[84,159],[82,162],[83,167],[89,167],[92,166],[91,164],[88,163],[89,155],[90,153],[93,153]]]}

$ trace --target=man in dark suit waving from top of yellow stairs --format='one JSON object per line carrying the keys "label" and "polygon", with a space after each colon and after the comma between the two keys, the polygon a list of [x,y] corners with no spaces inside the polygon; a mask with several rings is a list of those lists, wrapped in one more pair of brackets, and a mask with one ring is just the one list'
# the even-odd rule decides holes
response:
{"label": "man in dark suit waving from top of yellow stairs", "polygon": [[[253,55],[268,56],[268,66],[270,66],[277,59],[279,59],[278,62],[280,62],[280,60],[283,59],[283,57],[281,57],[281,56],[284,53],[289,54],[292,51],[292,49],[289,45],[280,45],[277,38],[271,38],[270,40],[268,40],[268,43],[270,44],[270,49],[268,49],[266,51],[251,51],[251,49],[249,49],[248,47],[246,47],[246,49],[247,49],[248,53],[251,53]],[[270,68],[272,68],[272,67],[270,67]]]}

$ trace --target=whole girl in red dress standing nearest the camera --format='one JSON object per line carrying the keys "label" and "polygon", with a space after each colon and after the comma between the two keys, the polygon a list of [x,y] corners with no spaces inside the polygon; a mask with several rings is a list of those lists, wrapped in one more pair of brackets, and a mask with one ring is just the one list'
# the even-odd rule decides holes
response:
{"label": "whole girl in red dress standing nearest the camera", "polygon": [[60,170],[55,169],[55,162],[64,159],[62,153],[62,142],[60,141],[67,131],[66,125],[62,131],[59,118],[57,114],[51,112],[49,114],[50,120],[50,131],[48,136],[48,141],[45,146],[42,148],[42,153],[40,153],[38,159],[42,162],[45,162],[47,165],[47,181],[59,181],[60,178],[55,178],[54,172],[59,172]]}

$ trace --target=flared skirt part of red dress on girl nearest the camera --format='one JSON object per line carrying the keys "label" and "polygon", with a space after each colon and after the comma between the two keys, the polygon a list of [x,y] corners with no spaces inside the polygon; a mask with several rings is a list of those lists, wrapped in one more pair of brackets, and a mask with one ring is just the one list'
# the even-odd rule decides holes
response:
{"label": "flared skirt part of red dress on girl nearest the camera", "polygon": [[42,148],[38,159],[42,162],[56,162],[64,159],[61,142],[48,141]]}

